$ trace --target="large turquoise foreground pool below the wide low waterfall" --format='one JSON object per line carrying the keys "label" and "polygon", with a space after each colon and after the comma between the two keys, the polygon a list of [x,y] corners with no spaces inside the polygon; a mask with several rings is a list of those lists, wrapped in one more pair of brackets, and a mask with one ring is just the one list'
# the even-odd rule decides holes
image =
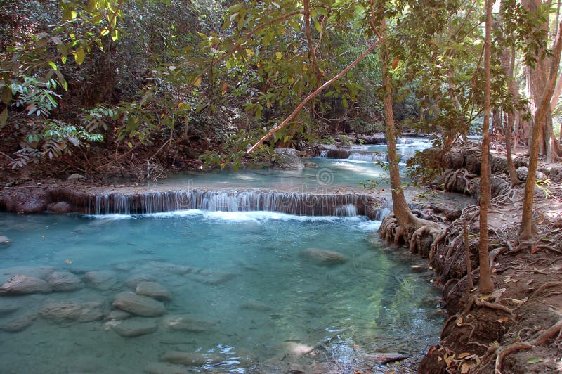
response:
{"label": "large turquoise foreground pool below the wide low waterfall", "polygon": [[[216,362],[167,370],[218,373],[284,372],[287,363],[322,360],[346,368],[358,352],[420,354],[438,341],[438,291],[373,242],[377,225],[270,212],[2,213],[0,235],[11,243],[0,247],[1,282],[56,269],[80,283],[70,292],[0,297],[0,372],[143,373],[162,369],[170,352]],[[344,258],[325,264],[311,248]],[[140,279],[171,296],[162,316],[125,320],[155,331],[124,337],[116,332],[123,322],[107,314],[115,315],[115,295],[135,292]],[[51,313],[62,304],[98,314],[81,321]]]}

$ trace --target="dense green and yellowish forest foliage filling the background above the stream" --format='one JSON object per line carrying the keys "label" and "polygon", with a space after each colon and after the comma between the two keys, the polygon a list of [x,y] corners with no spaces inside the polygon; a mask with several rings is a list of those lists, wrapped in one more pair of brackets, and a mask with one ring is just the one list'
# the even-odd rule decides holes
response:
{"label": "dense green and yellowish forest foliage filling the background above the stream", "polygon": [[[528,142],[552,59],[559,7],[495,2],[492,131]],[[398,127],[450,147],[481,129],[484,1],[5,1],[0,108],[9,167],[59,158],[93,172],[89,155],[124,154],[164,168],[205,151],[239,163],[249,145],[381,39]],[[261,147],[384,131],[381,48],[303,106]],[[554,138],[562,84],[542,126]],[[554,129],[557,130],[557,129]],[[72,156],[74,158],[69,158]],[[436,167],[415,160],[424,172]]]}

